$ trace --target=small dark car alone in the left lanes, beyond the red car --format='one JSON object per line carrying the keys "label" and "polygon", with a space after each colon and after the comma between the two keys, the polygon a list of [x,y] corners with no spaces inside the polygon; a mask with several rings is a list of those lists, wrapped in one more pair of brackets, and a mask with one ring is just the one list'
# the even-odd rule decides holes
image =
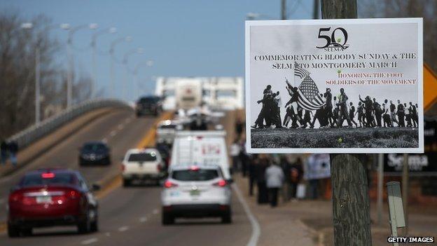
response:
{"label": "small dark car alone in the left lanes, beyond the red car", "polygon": [[86,142],[80,149],[79,165],[95,164],[111,164],[111,149],[104,142]]}

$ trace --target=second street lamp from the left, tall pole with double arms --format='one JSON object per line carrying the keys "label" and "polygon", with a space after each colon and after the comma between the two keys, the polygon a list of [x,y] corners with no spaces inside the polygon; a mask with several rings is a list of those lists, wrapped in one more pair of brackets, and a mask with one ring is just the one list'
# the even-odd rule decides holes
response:
{"label": "second street lamp from the left, tall pole with double arms", "polygon": [[69,69],[67,74],[67,108],[71,107],[73,104],[73,73],[74,73],[74,58],[73,58],[73,35],[75,32],[77,32],[79,29],[83,28],[90,28],[90,29],[96,29],[97,24],[92,23],[90,25],[79,25],[77,27],[70,27],[69,25],[61,25],[62,29],[69,31],[69,37],[67,40],[67,56],[69,60]]}

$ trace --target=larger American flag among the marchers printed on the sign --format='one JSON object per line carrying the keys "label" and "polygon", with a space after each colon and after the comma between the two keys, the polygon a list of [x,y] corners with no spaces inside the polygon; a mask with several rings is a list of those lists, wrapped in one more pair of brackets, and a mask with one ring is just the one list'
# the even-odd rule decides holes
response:
{"label": "larger American flag among the marchers printed on the sign", "polygon": [[310,76],[305,76],[298,88],[298,105],[303,109],[316,110],[325,106],[324,100],[319,95],[319,88]]}

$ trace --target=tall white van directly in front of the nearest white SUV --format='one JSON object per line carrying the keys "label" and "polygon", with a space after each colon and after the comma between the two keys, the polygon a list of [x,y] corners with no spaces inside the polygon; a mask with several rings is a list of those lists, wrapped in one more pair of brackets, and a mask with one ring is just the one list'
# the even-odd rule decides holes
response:
{"label": "tall white van directly in front of the nearest white SUV", "polygon": [[225,137],[223,130],[176,132],[170,166],[219,165],[224,179],[232,181]]}

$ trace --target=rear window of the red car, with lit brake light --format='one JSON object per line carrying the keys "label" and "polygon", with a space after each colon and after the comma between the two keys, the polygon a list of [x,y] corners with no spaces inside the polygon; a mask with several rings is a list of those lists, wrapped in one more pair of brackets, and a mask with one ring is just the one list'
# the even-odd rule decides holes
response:
{"label": "rear window of the red car, with lit brake light", "polygon": [[[46,177],[43,177],[46,175]],[[21,186],[39,186],[48,184],[73,184],[74,175],[71,173],[34,173],[25,175],[21,181]]]}

